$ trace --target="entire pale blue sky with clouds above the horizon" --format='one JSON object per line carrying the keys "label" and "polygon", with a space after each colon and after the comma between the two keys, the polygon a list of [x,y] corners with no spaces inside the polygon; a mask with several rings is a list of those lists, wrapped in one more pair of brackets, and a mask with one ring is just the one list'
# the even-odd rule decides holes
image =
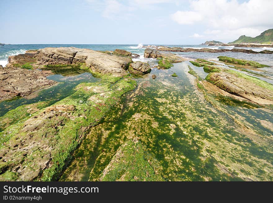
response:
{"label": "entire pale blue sky with clouds above the horizon", "polygon": [[200,44],[273,28],[273,0],[0,0],[0,43]]}

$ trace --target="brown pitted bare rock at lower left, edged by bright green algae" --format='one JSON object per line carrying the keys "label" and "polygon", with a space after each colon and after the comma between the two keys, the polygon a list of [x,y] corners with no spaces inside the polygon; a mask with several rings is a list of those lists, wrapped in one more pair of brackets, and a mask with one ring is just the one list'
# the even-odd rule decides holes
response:
{"label": "brown pitted bare rock at lower left, edged by bright green algae", "polygon": [[54,105],[26,120],[18,135],[2,148],[0,169],[9,168],[16,172],[17,180],[35,179],[51,165],[51,153],[58,146],[58,141],[52,143],[52,140],[65,119],[72,117],[73,110],[73,105]]}

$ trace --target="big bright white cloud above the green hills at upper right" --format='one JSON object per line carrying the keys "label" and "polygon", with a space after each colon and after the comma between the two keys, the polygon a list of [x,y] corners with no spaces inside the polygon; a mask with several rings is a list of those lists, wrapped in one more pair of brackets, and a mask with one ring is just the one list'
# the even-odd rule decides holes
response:
{"label": "big bright white cloud above the green hills at upper right", "polygon": [[175,12],[171,19],[183,25],[202,24],[207,27],[204,34],[211,37],[255,37],[273,27],[272,8],[272,0],[195,0],[190,1],[190,9]]}

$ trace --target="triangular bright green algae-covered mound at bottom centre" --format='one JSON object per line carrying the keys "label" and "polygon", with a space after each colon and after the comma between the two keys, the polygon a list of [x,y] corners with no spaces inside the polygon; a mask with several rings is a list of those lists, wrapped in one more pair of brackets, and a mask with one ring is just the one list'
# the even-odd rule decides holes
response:
{"label": "triangular bright green algae-covered mound at bottom centre", "polygon": [[[163,181],[156,174],[158,163],[141,142],[128,140],[121,145],[103,172],[102,181]],[[156,169],[155,169],[156,168]]]}

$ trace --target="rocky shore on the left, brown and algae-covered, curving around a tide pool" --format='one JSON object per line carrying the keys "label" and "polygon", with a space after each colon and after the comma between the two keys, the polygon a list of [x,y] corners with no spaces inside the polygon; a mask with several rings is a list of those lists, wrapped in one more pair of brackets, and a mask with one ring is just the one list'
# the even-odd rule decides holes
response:
{"label": "rocky shore on the left, brown and algae-covered, curving around a tide pool", "polygon": [[[101,80],[80,83],[74,94],[54,105],[38,102],[6,113],[0,122],[0,180],[58,179],[88,129],[96,125],[123,94],[136,87],[126,72],[132,62],[126,52],[108,54],[74,47],[29,52],[32,53],[9,57],[9,65],[1,67],[1,93],[5,93],[1,98],[24,96],[54,84],[46,79],[50,71],[35,69],[43,69],[44,65],[81,64]],[[150,71],[150,67],[139,63],[132,67],[142,74]]]}

